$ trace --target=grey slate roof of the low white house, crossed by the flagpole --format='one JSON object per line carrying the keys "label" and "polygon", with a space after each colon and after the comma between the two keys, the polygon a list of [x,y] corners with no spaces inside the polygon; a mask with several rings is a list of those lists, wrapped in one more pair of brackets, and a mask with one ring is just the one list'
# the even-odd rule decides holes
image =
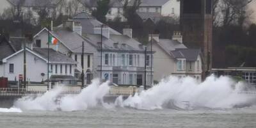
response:
{"label": "grey slate roof of the low white house, crossed by the flagpole", "polygon": [[[47,48],[33,48],[37,54],[42,56],[45,60],[48,58],[48,49]],[[49,61],[52,63],[71,63],[76,64],[77,62],[72,58],[69,58],[65,54],[49,49]]]}

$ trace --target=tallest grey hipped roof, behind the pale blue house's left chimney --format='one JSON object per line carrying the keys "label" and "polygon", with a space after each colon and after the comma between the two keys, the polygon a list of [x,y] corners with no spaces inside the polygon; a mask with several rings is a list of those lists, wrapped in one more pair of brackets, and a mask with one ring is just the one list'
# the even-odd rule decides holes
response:
{"label": "tallest grey hipped roof, behind the pale blue house's left chimney", "polygon": [[[89,15],[86,12],[78,13],[75,17],[73,17],[73,20],[81,23],[83,35],[93,34],[94,28],[102,25],[102,22],[99,22],[99,20],[95,19],[92,17],[92,15]],[[109,29],[111,35],[121,35],[121,33],[118,33],[118,31],[111,28]]]}

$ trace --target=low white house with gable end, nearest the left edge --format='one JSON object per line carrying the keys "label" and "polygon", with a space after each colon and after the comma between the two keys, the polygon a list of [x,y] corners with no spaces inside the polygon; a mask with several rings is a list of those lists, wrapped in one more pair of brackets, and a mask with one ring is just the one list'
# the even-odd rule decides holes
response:
{"label": "low white house with gable end, nearest the left edge", "polygon": [[[24,49],[3,59],[3,76],[8,81],[17,81],[19,74],[24,72]],[[46,48],[26,48],[26,78],[27,81],[42,82],[47,80],[47,51]],[[76,84],[74,77],[76,61],[60,52],[49,49],[49,81],[63,84]]]}

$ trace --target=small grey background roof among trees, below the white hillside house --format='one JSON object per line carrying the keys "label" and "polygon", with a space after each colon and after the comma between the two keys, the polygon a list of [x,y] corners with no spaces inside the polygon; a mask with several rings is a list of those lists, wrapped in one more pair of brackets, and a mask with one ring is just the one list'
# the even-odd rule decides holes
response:
{"label": "small grey background roof among trees, below the white hillside house", "polygon": [[161,20],[161,14],[156,12],[137,12],[141,20],[145,22],[146,20],[150,19],[154,23],[157,23],[159,20]]}

